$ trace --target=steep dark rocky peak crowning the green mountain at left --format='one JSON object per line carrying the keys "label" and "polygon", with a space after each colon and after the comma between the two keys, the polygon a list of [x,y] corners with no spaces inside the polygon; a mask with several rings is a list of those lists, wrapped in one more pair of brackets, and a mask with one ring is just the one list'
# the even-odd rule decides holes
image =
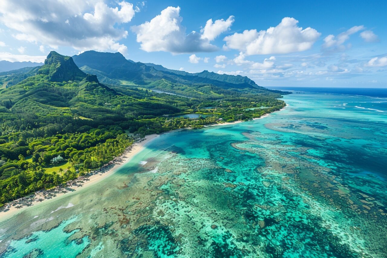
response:
{"label": "steep dark rocky peak crowning the green mountain at left", "polygon": [[51,51],[45,64],[40,67],[38,74],[48,75],[50,81],[81,81],[87,75],[74,63],[72,57],[60,55]]}

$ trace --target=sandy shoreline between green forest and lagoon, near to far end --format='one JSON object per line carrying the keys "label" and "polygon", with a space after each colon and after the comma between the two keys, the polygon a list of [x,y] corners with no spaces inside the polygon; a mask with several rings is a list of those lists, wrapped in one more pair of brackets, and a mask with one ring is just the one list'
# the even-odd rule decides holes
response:
{"label": "sandy shoreline between green forest and lagoon, near to far end", "polygon": [[[286,106],[287,106],[287,104],[286,104]],[[279,111],[284,110],[286,108],[286,106],[281,108],[280,110],[277,110],[277,111],[274,111],[274,112],[271,112],[268,114],[264,114],[264,115],[257,117],[257,118],[253,118],[252,120],[258,120],[258,119],[268,117],[269,115],[271,115],[275,112],[279,112]],[[238,120],[238,121],[234,121],[234,122],[224,122],[224,123],[220,123],[220,124],[211,124],[211,125],[207,125],[204,127],[228,126],[228,125],[238,124],[241,122],[246,122],[246,121]],[[14,205],[14,206],[11,206],[9,208],[5,208],[5,210],[2,210],[0,212],[0,221],[6,220],[7,218],[10,218],[13,215],[16,215],[17,213],[22,212],[27,207],[31,207],[33,205],[37,205],[37,204],[43,203],[43,202],[46,203],[48,200],[51,200],[51,201],[56,200],[56,199],[60,198],[61,196],[63,196],[67,192],[70,192],[70,193],[75,192],[80,187],[86,188],[88,186],[92,186],[93,184],[96,184],[96,183],[102,181],[103,179],[105,179],[106,177],[110,176],[111,174],[114,174],[114,172],[117,169],[119,169],[122,165],[129,162],[137,153],[142,151],[147,143],[150,143],[151,141],[158,138],[162,134],[176,132],[176,131],[182,131],[182,130],[186,130],[186,129],[192,129],[192,128],[180,128],[180,129],[175,129],[175,130],[168,131],[168,132],[163,132],[161,134],[146,135],[144,137],[145,140],[140,141],[139,143],[134,143],[120,157],[116,158],[117,160],[113,160],[111,162],[111,164],[107,165],[105,167],[105,169],[106,169],[105,171],[98,171],[98,172],[95,172],[94,174],[92,174],[90,176],[86,176],[86,177],[78,177],[77,179],[74,179],[73,181],[66,182],[64,187],[55,187],[53,189],[49,189],[49,190],[45,190],[45,191],[41,190],[41,191],[32,193],[31,195],[35,195],[35,196],[33,198],[33,201],[31,203],[29,203],[29,205],[23,204],[23,206],[20,207],[21,203],[25,203],[23,200],[26,200],[27,197],[15,200],[14,202],[19,202],[19,205]],[[111,165],[113,165],[113,167],[109,167]],[[102,167],[98,170],[103,170],[103,169],[104,169],[104,167]],[[70,185],[68,185],[68,184],[70,184]],[[49,192],[48,196],[50,198],[47,198],[46,192]]]}

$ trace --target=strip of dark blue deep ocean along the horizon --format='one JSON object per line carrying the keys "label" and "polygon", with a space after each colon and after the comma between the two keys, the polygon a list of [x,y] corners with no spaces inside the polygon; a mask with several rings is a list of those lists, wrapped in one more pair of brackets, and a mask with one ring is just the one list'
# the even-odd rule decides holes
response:
{"label": "strip of dark blue deep ocean along the horizon", "polygon": [[266,87],[283,91],[305,91],[315,93],[335,93],[387,98],[387,88],[325,88],[325,87]]}

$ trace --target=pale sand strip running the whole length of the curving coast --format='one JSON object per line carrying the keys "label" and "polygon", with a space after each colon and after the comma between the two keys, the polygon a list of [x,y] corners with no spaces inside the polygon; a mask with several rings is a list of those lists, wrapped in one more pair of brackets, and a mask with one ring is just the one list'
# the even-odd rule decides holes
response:
{"label": "pale sand strip running the whole length of the curving coast", "polygon": [[[286,106],[284,108],[281,108],[280,110],[278,111],[274,111],[274,112],[279,112],[279,111],[282,111],[286,108]],[[272,112],[272,113],[274,113]],[[269,114],[265,114],[265,115],[262,115],[261,117],[257,117],[257,118],[254,118],[253,120],[257,120],[257,119],[262,119],[262,118],[265,118],[267,116],[269,116],[270,114],[272,113],[269,113]],[[228,125],[233,125],[233,124],[238,124],[238,123],[241,123],[241,122],[245,122],[243,120],[238,120],[238,121],[235,121],[235,122],[224,122],[224,123],[221,123],[221,124],[211,124],[209,126],[228,126]],[[208,126],[205,126],[205,127],[208,127]],[[185,129],[192,129],[192,128],[182,128],[182,129],[176,129],[176,130],[172,130],[172,131],[169,131],[169,132],[165,132],[165,133],[170,133],[170,132],[176,132],[176,131],[181,131],[181,130],[185,130]],[[129,162],[137,153],[139,153],[140,151],[142,151],[144,149],[144,146],[147,144],[147,143],[150,143],[152,140],[156,139],[157,137],[159,137],[161,134],[150,134],[150,135],[147,135],[145,136],[145,140],[144,141],[141,141],[140,143],[135,143],[133,145],[133,147],[131,148],[131,150],[129,152],[125,152],[123,153],[123,155],[121,156],[121,160],[119,163],[116,163],[113,167],[111,167],[110,169],[108,169],[106,172],[103,172],[102,174],[101,173],[97,173],[97,174],[94,174],[94,175],[91,175],[89,177],[87,177],[87,181],[85,182],[82,182],[82,184],[77,184],[75,186],[68,186],[68,188],[70,189],[73,189],[74,191],[76,191],[77,189],[79,189],[80,187],[82,187],[82,189],[88,187],[88,186],[91,186],[93,184],[96,184],[100,181],[102,181],[103,179],[105,179],[106,177],[110,176],[111,174],[113,174],[116,170],[118,170],[120,167],[122,167],[123,165],[125,165],[127,162]],[[60,198],[61,196],[63,196],[65,193],[56,193],[55,196],[53,196],[52,198],[50,199],[45,199],[45,197],[43,196],[43,194],[41,193],[35,193],[35,199],[43,199],[43,200],[34,200],[30,206],[33,206],[33,205],[36,205],[36,204],[39,204],[39,203],[46,203],[48,200],[50,201],[54,201],[54,200],[57,200],[58,198]],[[33,195],[33,194],[32,194]],[[22,206],[21,208],[16,208],[18,205],[15,205],[15,206],[11,206],[10,208],[7,208],[6,210],[0,212],[0,221],[3,221],[7,218],[10,218],[12,217],[13,215],[19,213],[19,212],[22,212],[23,210],[25,210],[26,208],[30,207],[30,206]]]}

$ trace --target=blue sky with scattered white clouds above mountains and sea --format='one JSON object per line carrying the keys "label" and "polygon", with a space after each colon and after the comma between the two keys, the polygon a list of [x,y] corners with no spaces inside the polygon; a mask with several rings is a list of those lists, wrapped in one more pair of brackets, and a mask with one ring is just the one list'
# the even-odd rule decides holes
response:
{"label": "blue sky with scattered white clouds above mountains and sea", "polygon": [[0,1],[0,60],[51,50],[260,86],[387,88],[387,1]]}

